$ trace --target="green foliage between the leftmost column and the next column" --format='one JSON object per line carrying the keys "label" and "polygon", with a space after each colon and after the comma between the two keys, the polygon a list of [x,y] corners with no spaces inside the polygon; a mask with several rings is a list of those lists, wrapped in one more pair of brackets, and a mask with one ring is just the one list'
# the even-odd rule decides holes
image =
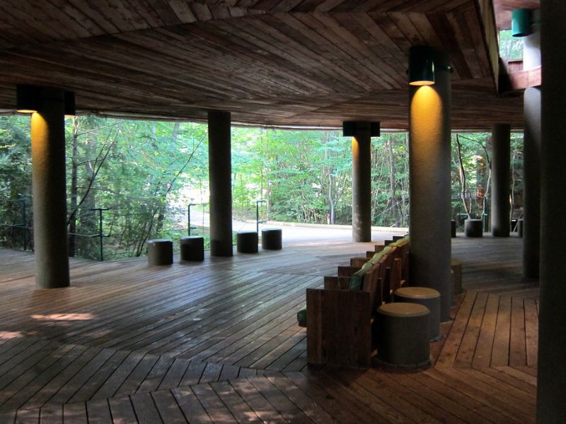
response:
{"label": "green foliage between the leftmost column and the next column", "polygon": [[[139,256],[150,238],[185,234],[178,222],[187,204],[182,189],[207,171],[207,156],[200,154],[206,151],[203,126],[92,117],[78,118],[76,125],[86,136],[79,143],[79,197],[91,198],[88,208],[109,209],[104,228],[110,257]],[[193,160],[197,172],[189,174]],[[80,223],[77,232],[91,233],[92,219]]]}

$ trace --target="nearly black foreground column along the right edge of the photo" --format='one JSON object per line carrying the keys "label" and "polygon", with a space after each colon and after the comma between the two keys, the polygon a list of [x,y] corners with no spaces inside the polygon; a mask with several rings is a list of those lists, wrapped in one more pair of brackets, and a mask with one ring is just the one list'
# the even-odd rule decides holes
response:
{"label": "nearly black foreground column along the right edge of the photo", "polygon": [[541,300],[537,423],[566,423],[566,2],[541,1]]}

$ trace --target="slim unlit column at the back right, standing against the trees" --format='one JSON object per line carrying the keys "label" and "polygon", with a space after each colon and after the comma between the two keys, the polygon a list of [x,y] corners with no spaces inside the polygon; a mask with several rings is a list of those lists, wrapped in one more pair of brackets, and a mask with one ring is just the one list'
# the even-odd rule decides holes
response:
{"label": "slim unlit column at the back right, standing against the trees", "polygon": [[491,232],[494,237],[509,237],[511,126],[496,124],[492,126],[491,134]]}

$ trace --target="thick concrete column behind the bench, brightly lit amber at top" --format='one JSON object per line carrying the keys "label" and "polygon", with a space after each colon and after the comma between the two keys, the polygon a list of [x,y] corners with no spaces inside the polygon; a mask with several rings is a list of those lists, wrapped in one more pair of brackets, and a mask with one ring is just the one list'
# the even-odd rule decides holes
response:
{"label": "thick concrete column behind the bench, brightly lit amber at top", "polygon": [[450,193],[450,73],[435,57],[435,83],[410,86],[410,285],[439,290],[441,320],[452,305]]}

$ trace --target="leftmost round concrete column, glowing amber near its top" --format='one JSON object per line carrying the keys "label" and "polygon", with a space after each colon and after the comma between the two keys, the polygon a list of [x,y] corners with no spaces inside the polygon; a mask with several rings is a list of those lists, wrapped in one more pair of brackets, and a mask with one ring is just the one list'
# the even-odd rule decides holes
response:
{"label": "leftmost round concrete column, glowing amber near its top", "polygon": [[64,91],[42,88],[38,94],[40,107],[31,117],[35,283],[40,288],[67,287]]}

